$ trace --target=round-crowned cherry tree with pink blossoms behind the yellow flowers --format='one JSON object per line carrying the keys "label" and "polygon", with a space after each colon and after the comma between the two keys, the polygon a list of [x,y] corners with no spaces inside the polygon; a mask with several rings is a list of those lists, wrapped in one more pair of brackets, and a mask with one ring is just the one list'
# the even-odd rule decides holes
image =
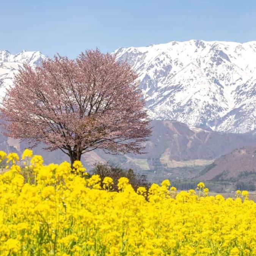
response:
{"label": "round-crowned cherry tree with pink blossoms behind the yellow flowers", "polygon": [[127,63],[98,49],[25,65],[0,107],[5,135],[60,149],[71,163],[97,148],[141,153],[151,128],[136,79]]}

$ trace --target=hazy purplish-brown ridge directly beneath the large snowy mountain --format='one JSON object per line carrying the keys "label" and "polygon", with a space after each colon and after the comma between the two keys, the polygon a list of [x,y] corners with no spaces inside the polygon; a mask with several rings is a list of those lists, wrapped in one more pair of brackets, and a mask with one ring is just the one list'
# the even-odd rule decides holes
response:
{"label": "hazy purplish-brown ridge directly beneath the large snowy mountain", "polygon": [[149,154],[139,158],[168,154],[170,160],[176,161],[216,159],[236,148],[256,145],[252,134],[209,132],[176,121],[152,121],[151,125],[152,136],[145,143]]}

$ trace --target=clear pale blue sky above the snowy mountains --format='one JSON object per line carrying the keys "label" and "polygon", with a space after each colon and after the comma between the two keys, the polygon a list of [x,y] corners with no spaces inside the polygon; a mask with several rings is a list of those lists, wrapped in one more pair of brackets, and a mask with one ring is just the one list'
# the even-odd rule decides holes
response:
{"label": "clear pale blue sky above the snowy mountains", "polygon": [[254,0],[0,0],[0,49],[75,58],[170,41],[256,41]]}

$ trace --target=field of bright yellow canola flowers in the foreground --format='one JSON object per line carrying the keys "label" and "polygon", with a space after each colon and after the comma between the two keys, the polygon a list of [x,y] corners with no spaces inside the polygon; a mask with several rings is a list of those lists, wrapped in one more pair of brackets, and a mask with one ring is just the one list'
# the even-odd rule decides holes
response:
{"label": "field of bright yellow canola flowers in the foreground", "polygon": [[[165,180],[135,192],[127,178],[112,179],[73,167],[43,165],[26,149],[24,183],[18,155],[0,151],[0,255],[256,255],[256,204],[237,198],[176,192]],[[3,166],[4,168],[6,166]],[[25,171],[26,173],[26,171]]]}

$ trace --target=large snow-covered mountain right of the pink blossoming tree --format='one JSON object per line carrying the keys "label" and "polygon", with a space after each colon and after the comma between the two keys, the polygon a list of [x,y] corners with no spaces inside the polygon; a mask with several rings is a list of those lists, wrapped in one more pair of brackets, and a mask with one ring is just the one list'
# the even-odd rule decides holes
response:
{"label": "large snow-covered mountain right of the pink blossoming tree", "polygon": [[223,132],[256,128],[256,41],[190,40],[119,48],[154,119]]}

